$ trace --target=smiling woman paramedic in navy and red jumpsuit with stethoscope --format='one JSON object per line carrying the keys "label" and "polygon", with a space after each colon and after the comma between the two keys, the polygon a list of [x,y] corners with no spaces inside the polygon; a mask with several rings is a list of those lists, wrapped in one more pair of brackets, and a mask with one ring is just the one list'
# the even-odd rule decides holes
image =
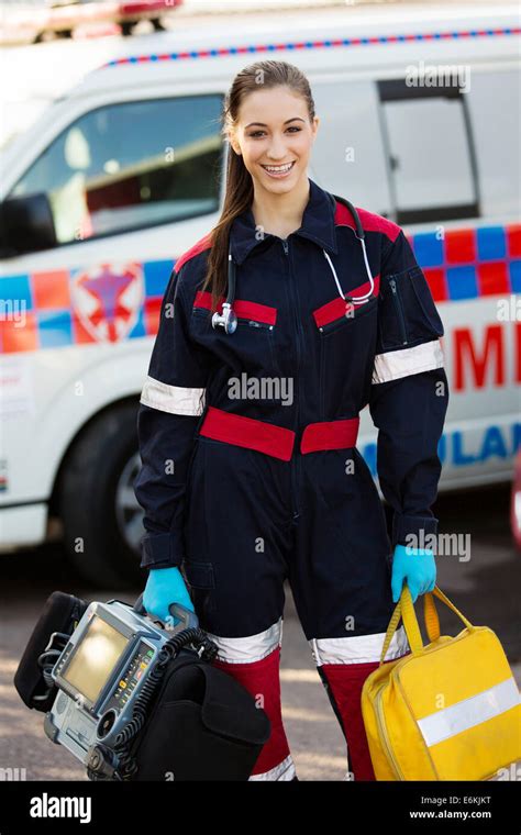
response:
{"label": "smiling woman paramedic in navy and red jumpsuit with stethoscope", "polygon": [[[258,62],[233,80],[222,214],[175,263],[137,419],[144,605],[163,620],[173,601],[195,606],[213,663],[262,700],[271,734],[251,780],[297,779],[280,708],[285,579],[348,777],[374,780],[362,686],[402,582],[415,600],[436,576],[422,544],[437,532],[443,325],[402,229],[309,179],[318,123],[297,67]],[[391,542],[356,448],[366,405]],[[386,660],[407,652],[401,626]]]}

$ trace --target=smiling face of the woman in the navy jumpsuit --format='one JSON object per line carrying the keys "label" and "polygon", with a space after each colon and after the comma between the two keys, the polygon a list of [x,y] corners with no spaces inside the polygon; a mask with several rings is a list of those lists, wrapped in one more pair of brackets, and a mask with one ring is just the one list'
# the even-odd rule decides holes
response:
{"label": "smiling face of the woman in the navy jumpsuit", "polygon": [[246,96],[230,143],[242,155],[256,193],[279,194],[307,180],[318,125],[318,116],[310,122],[306,100],[286,86]]}

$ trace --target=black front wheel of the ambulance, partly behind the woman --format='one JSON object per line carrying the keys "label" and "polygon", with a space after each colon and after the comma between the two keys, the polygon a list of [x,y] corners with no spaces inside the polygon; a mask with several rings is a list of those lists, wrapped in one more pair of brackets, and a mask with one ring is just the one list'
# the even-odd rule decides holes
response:
{"label": "black front wheel of the ambulance, partly behind the woman", "polygon": [[58,493],[67,553],[98,588],[138,587],[143,510],[132,488],[141,466],[136,407],[121,404],[95,419],[64,463]]}

